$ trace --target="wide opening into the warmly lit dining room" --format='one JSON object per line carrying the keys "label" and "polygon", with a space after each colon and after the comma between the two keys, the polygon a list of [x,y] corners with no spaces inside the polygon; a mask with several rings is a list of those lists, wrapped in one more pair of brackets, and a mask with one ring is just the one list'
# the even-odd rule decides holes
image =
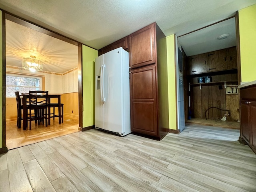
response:
{"label": "wide opening into the warmly lit dining room", "polygon": [[[23,127],[18,129],[16,99],[11,94],[10,97],[6,95],[8,149],[78,131],[78,43],[70,44],[71,40],[66,42],[63,41],[64,37],[60,40],[59,35],[45,32],[45,29],[6,14],[6,75],[43,77],[42,90],[48,90],[49,94],[61,94],[61,102],[64,103],[64,123],[58,124],[58,120],[54,122],[51,119],[51,125],[48,127],[33,122],[32,130],[23,130]],[[37,58],[43,61],[42,72],[31,73],[22,70],[22,58],[32,54],[36,54]],[[22,93],[22,89],[20,92]],[[6,94],[9,94],[7,82]]]}

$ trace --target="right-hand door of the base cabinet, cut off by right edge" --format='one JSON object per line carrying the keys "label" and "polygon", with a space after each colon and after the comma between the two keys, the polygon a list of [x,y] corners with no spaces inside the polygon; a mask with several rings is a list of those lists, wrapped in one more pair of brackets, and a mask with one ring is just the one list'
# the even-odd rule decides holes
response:
{"label": "right-hand door of the base cabinet, cut off by right edge", "polygon": [[250,127],[251,127],[251,145],[256,151],[256,102],[252,101],[250,104]]}

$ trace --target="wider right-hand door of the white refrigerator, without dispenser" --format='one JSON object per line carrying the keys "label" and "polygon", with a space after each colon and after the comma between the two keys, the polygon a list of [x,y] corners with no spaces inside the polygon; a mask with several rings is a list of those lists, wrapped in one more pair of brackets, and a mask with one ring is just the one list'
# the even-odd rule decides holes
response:
{"label": "wider right-hand door of the white refrigerator, without dispenser", "polygon": [[122,48],[104,54],[104,129],[122,132]]}

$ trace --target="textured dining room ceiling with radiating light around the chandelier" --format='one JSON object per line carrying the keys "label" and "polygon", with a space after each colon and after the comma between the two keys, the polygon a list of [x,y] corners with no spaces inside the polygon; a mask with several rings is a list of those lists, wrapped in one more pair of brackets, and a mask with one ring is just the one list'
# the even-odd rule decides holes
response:
{"label": "textured dining room ceiling with radiating light around the chandelier", "polygon": [[36,56],[43,70],[64,73],[78,66],[78,47],[6,20],[6,65],[22,66],[22,58]]}

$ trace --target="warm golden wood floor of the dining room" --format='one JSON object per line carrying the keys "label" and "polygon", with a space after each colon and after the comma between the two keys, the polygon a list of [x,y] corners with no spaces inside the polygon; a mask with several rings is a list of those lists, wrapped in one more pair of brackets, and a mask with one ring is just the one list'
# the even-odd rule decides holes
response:
{"label": "warm golden wood floor of the dining room", "polygon": [[6,122],[6,146],[8,149],[26,146],[28,144],[45,141],[51,138],[78,132],[78,121],[76,119],[64,118],[64,122],[59,124],[58,118],[51,119],[51,124],[47,127],[32,122],[31,130],[23,130],[16,126],[16,121]]}

